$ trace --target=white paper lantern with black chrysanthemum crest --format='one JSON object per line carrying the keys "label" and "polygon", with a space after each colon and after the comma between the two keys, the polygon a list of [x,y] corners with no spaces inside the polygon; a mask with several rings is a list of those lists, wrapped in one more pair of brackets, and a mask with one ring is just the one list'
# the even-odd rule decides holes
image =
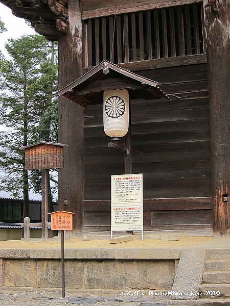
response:
{"label": "white paper lantern with black chrysanthemum crest", "polygon": [[104,91],[104,131],[110,137],[125,136],[129,128],[129,93],[127,89]]}

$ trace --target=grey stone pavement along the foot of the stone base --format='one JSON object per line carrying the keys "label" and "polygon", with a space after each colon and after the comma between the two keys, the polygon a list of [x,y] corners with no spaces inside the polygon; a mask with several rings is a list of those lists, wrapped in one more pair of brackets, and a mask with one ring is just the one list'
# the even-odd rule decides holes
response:
{"label": "grey stone pavement along the foot of the stone base", "polygon": [[[66,291],[62,298],[61,289],[0,287],[0,305],[4,306],[166,306],[167,296],[152,295],[148,290],[110,291],[94,290],[91,293]],[[156,293],[156,292],[155,292]],[[158,293],[156,293],[158,294]],[[164,294],[166,294],[164,292]]]}

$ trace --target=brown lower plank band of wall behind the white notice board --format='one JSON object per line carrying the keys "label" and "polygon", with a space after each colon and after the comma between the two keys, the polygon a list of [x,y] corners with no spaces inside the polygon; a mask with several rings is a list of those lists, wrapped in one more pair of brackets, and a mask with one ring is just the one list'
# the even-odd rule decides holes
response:
{"label": "brown lower plank band of wall behind the white notice board", "polygon": [[[110,230],[110,200],[85,200],[84,231]],[[144,230],[211,229],[212,198],[144,199]]]}

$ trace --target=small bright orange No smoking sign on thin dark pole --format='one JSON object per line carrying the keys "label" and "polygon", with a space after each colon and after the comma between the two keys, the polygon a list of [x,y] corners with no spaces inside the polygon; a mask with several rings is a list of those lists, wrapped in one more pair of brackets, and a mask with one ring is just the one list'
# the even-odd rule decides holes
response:
{"label": "small bright orange No smoking sign on thin dark pole", "polygon": [[52,231],[71,231],[73,230],[73,214],[71,212],[57,211],[49,213],[51,215]]}

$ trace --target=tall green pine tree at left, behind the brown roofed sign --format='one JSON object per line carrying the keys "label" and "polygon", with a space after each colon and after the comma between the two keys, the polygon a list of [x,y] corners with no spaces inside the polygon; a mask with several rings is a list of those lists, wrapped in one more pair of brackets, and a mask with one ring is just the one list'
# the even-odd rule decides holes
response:
{"label": "tall green pine tree at left, behind the brown roofed sign", "polygon": [[1,189],[12,196],[23,194],[24,215],[29,215],[29,174],[24,167],[24,151],[19,148],[33,141],[43,113],[52,107],[57,89],[57,64],[52,48],[40,35],[9,39],[10,61],[0,60],[0,167],[7,175]]}

